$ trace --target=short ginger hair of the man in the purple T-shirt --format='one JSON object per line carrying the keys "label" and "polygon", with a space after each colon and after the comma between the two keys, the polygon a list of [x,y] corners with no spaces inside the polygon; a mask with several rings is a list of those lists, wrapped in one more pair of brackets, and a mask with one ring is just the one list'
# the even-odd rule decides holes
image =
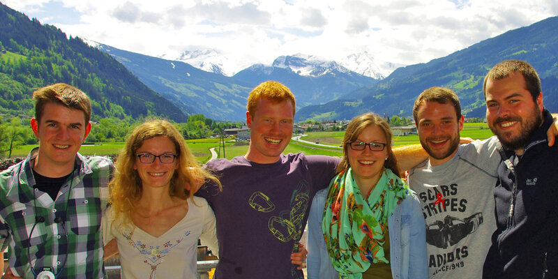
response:
{"label": "short ginger hair of the man in the purple T-shirt", "polygon": [[250,115],[254,116],[257,110],[257,102],[262,98],[271,100],[273,103],[290,100],[292,103],[292,115],[294,116],[294,112],[296,112],[296,102],[294,101],[293,93],[287,86],[280,82],[262,82],[252,89],[250,96],[248,96],[248,104],[246,105],[246,109],[250,112]]}

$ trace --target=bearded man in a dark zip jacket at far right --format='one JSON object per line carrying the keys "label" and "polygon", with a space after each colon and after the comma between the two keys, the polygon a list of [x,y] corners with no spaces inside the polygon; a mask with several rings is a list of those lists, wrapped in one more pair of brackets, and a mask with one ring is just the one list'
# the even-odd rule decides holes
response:
{"label": "bearded man in a dark zip jacket at far right", "polygon": [[488,72],[483,91],[488,126],[502,143],[483,278],[558,278],[558,146],[548,146],[541,81],[529,63],[508,60]]}

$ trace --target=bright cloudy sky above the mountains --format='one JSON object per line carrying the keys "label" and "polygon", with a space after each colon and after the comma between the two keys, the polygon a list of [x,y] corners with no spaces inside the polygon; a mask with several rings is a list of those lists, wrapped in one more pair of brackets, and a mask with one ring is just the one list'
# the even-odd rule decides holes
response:
{"label": "bright cloudy sky above the mountains", "polygon": [[280,55],[328,60],[368,52],[424,63],[510,29],[558,15],[541,0],[2,0],[68,35],[174,59],[216,50],[230,67]]}

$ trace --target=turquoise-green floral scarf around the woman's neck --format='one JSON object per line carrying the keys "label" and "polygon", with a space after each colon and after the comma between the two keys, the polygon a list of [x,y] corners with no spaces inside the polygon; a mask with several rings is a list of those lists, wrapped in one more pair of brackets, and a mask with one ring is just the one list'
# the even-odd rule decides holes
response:
{"label": "turquoise-green floral scarf around the woman's neck", "polygon": [[409,195],[409,186],[384,169],[368,200],[354,181],[352,169],[340,172],[329,184],[322,232],[339,278],[362,278],[371,263],[389,263],[384,257],[388,218]]}

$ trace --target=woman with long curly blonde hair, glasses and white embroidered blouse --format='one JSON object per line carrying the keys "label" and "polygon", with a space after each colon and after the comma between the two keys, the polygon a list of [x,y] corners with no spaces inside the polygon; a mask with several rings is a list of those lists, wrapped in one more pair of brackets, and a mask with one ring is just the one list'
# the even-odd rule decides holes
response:
{"label": "woman with long curly blonde hair, glasses and white embroidered blouse", "polygon": [[[116,160],[103,220],[105,243],[116,239],[122,278],[195,278],[197,240],[218,252],[213,211],[191,187],[207,180],[220,186],[171,123],[133,130]],[[105,258],[115,253],[107,248]]]}

